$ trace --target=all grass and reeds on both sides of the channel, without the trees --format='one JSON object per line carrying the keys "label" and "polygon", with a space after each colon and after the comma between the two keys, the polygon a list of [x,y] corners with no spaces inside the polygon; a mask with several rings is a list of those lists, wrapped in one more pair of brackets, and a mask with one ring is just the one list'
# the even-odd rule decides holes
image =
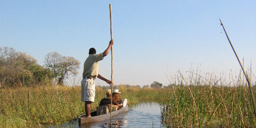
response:
{"label": "all grass and reeds on both sides of the channel, without the trees", "polygon": [[[177,79],[178,78],[178,79]],[[225,83],[217,77],[188,77],[170,80],[165,88],[152,89],[119,85],[121,98],[129,106],[158,102],[167,127],[255,127],[249,88],[241,77]],[[110,88],[109,86],[107,87]],[[106,87],[96,86],[96,110]],[[0,127],[47,127],[63,124],[85,113],[80,86],[21,86],[0,89]],[[255,86],[252,87],[256,95]]]}

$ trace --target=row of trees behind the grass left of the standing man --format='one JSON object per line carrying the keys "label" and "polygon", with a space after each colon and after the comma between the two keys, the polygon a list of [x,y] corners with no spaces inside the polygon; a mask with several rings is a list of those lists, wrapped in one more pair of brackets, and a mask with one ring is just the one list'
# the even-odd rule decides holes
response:
{"label": "row of trees behind the grass left of the standing man", "polygon": [[0,48],[0,88],[42,85],[45,80],[61,85],[69,74],[77,74],[79,64],[73,57],[51,52],[42,66],[24,52]]}

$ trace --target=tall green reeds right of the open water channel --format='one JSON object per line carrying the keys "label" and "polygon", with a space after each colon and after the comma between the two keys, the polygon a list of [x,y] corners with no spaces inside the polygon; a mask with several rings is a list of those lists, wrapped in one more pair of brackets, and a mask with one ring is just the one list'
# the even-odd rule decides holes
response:
{"label": "tall green reeds right of the open water channel", "polygon": [[[254,108],[248,85],[241,77],[226,83],[208,74],[190,73],[170,86],[168,101],[161,111],[169,127],[256,127]],[[255,86],[252,92],[256,94]]]}

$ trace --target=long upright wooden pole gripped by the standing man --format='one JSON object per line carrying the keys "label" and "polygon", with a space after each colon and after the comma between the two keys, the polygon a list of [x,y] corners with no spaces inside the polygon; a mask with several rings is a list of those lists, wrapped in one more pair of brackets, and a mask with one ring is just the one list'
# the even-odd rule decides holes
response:
{"label": "long upright wooden pole gripped by the standing man", "polygon": [[[113,40],[112,34],[112,13],[111,13],[111,4],[110,4],[110,35],[111,40]],[[112,125],[112,93],[113,93],[113,46],[111,46],[111,109],[110,109],[110,125]]]}

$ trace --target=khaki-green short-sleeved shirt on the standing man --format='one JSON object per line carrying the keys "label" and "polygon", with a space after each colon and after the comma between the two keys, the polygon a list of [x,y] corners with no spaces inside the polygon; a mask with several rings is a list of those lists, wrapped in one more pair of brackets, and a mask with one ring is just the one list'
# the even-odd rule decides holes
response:
{"label": "khaki-green short-sleeved shirt on the standing man", "polygon": [[96,79],[99,70],[99,61],[103,60],[103,53],[90,54],[83,64],[83,77],[93,77]]}

